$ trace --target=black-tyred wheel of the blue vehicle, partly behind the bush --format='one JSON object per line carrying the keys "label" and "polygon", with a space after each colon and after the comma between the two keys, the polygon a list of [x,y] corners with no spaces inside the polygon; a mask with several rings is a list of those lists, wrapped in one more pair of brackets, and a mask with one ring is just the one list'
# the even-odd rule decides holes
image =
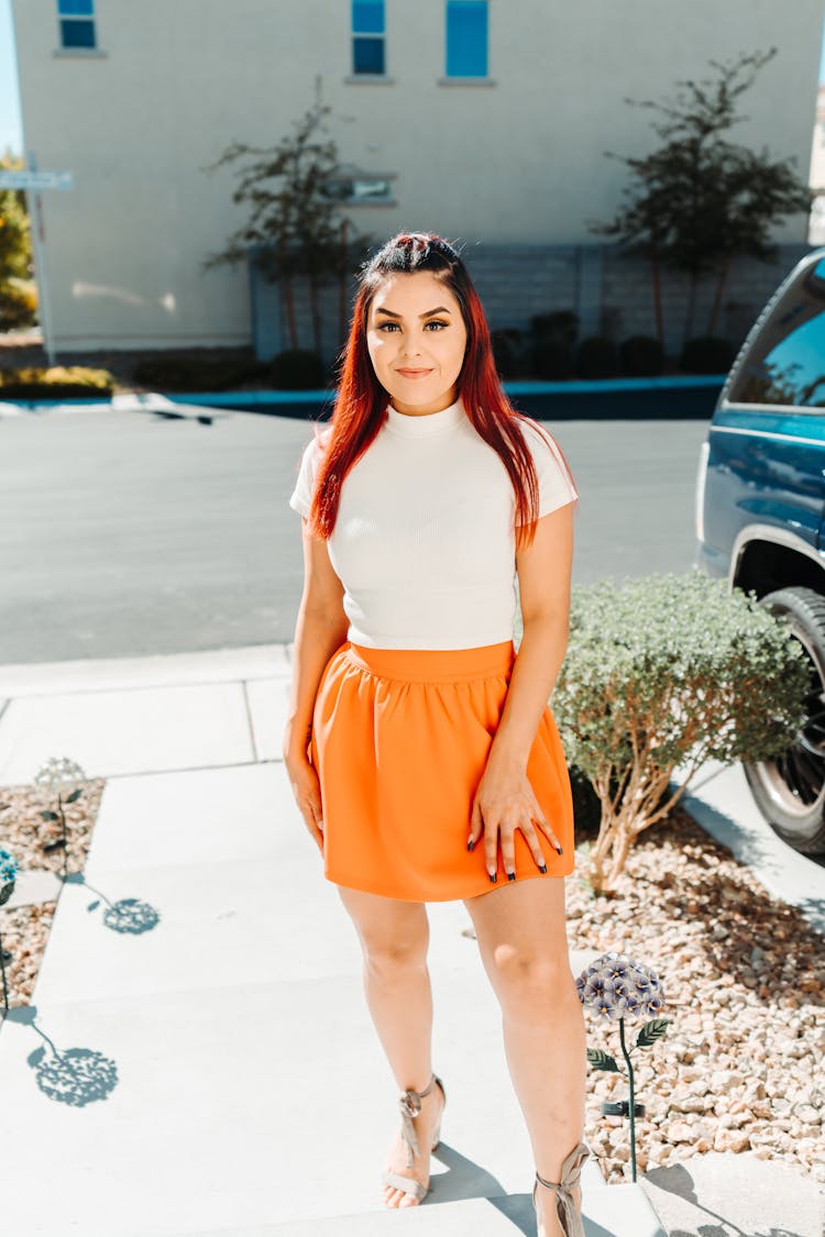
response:
{"label": "black-tyred wheel of the blue vehicle, partly behind the bush", "polygon": [[811,663],[808,717],[797,741],[772,761],[742,761],[756,804],[774,831],[804,855],[825,851],[825,597],[790,588],[759,599],[785,615]]}

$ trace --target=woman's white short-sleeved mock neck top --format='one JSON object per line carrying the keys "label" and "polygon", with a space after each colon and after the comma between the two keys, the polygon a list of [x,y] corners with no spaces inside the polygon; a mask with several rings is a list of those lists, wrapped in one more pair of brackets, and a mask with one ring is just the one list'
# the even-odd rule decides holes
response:
{"label": "woman's white short-sleeved mock neck top", "polygon": [[[529,419],[521,426],[536,461],[539,517],[578,501],[553,435]],[[289,497],[304,517],[328,437],[329,429],[304,449]],[[423,416],[390,404],[344,477],[327,543],[345,590],[348,640],[367,648],[433,649],[512,640],[515,515],[507,470],[460,400]]]}

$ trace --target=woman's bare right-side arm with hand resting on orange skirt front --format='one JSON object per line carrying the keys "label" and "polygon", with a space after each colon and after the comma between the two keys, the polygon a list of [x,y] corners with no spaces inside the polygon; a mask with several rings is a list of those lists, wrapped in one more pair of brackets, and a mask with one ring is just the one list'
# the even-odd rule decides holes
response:
{"label": "woman's bare right-side arm with hand resting on orange skirt front", "polygon": [[517,828],[537,865],[543,865],[533,820],[560,852],[559,840],[528,782],[527,761],[568,646],[573,512],[574,503],[568,502],[542,516],[532,544],[516,555],[524,632],[476,790],[469,837],[475,844],[484,831],[491,873],[497,866],[500,831],[505,870],[515,871],[513,833]]}

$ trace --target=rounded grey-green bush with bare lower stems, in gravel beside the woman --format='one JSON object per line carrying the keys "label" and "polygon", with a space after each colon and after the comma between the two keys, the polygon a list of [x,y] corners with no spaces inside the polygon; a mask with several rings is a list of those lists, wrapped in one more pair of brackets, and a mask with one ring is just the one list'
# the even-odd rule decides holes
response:
{"label": "rounded grey-green bush with bare lower stems, in gravel beside the woman", "polygon": [[[597,892],[709,760],[769,760],[805,720],[810,663],[754,594],[699,570],[574,586],[553,698],[565,756],[601,803],[588,856]],[[677,768],[683,784],[668,795]]]}

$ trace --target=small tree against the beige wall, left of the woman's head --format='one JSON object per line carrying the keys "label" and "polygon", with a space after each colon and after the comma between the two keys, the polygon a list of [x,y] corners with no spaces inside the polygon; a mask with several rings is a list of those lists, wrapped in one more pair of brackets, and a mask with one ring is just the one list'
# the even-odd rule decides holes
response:
{"label": "small tree against the beige wall, left of the woman's head", "polygon": [[331,109],[315,103],[293,122],[294,135],[277,146],[259,147],[233,142],[207,171],[213,172],[239,158],[250,158],[239,171],[233,202],[250,207],[247,223],[229,238],[219,254],[204,262],[209,270],[220,263],[249,260],[257,247],[257,262],[266,278],[283,289],[289,343],[299,346],[294,306],[294,280],[306,277],[309,288],[313,343],[322,353],[319,288],[339,280],[343,286],[370,244],[343,215],[343,205],[329,192],[340,176],[336,143],[325,136],[325,118]]}

